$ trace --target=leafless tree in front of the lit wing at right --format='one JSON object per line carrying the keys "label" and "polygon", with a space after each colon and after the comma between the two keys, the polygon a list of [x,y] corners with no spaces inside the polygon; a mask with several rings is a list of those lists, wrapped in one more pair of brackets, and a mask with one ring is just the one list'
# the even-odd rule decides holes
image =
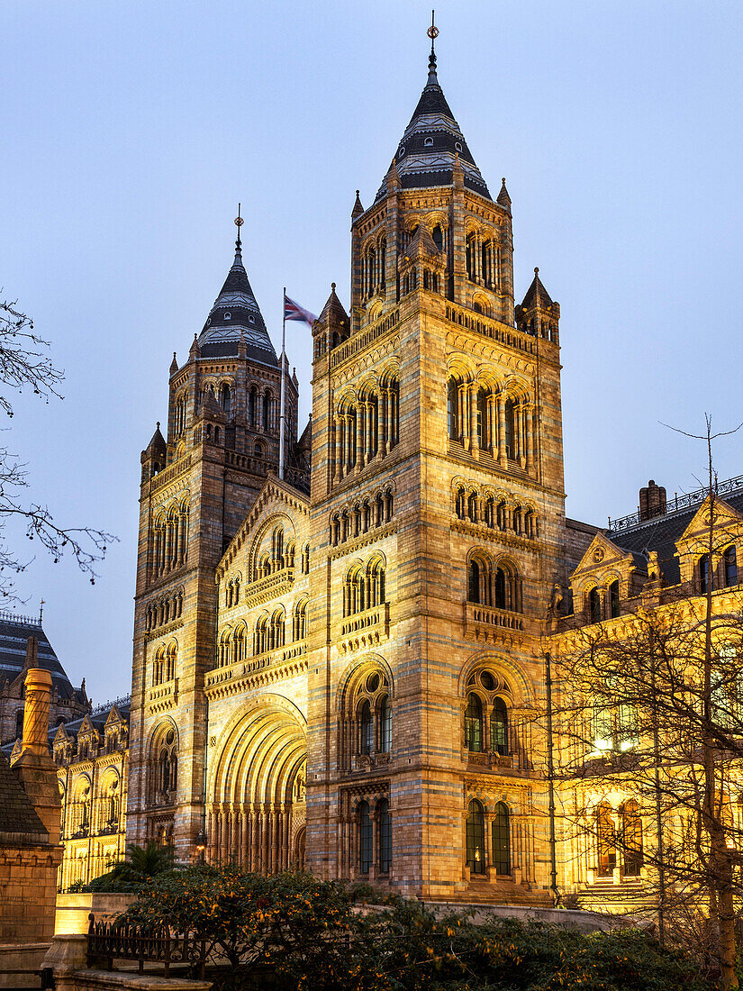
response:
{"label": "leafless tree in front of the lit wing at right", "polygon": [[620,617],[566,622],[553,722],[563,839],[583,882],[642,875],[660,935],[691,939],[737,988],[743,600],[715,566],[736,524],[715,495],[714,437],[707,417],[703,574],[667,589],[649,569]]}

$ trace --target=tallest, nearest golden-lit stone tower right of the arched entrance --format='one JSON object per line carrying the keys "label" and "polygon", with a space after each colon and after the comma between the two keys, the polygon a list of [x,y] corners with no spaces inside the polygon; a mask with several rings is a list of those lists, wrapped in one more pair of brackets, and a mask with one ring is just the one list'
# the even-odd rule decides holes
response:
{"label": "tallest, nearest golden-lit stone tower right of the arched entrance", "polygon": [[559,306],[537,275],[514,307],[510,197],[490,194],[433,47],[351,232],[351,312],[334,287],[313,326],[307,863],[539,901],[529,714],[565,581]]}

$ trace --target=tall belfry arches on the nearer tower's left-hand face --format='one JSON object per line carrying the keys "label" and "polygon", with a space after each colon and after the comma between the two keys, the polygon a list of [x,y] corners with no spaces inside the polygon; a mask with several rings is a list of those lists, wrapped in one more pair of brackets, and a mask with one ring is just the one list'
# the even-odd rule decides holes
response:
{"label": "tall belfry arches on the nearer tower's left-hand face", "polygon": [[399,383],[396,373],[346,393],[333,413],[333,481],[362,471],[399,441]]}

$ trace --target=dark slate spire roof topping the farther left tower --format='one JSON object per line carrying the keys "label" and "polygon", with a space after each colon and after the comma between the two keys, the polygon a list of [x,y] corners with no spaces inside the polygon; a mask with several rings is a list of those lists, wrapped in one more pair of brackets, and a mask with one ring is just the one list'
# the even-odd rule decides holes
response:
{"label": "dark slate spire roof topping the farther left tower", "polygon": [[243,265],[240,238],[235,245],[235,261],[225,284],[214,301],[204,329],[199,335],[203,358],[228,358],[238,353],[241,330],[248,345],[248,357],[265,365],[278,363],[265,322]]}

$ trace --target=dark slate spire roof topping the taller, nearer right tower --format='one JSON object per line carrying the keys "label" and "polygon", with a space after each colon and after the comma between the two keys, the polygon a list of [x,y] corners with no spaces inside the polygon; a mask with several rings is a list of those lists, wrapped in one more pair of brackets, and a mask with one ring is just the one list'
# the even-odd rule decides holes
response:
{"label": "dark slate spire roof topping the taller, nearer right tower", "polygon": [[[485,180],[449,108],[436,74],[436,55],[431,47],[428,81],[400,141],[395,165],[403,189],[451,185],[455,153],[465,172],[465,186],[491,199]],[[376,200],[386,192],[382,182]]]}

